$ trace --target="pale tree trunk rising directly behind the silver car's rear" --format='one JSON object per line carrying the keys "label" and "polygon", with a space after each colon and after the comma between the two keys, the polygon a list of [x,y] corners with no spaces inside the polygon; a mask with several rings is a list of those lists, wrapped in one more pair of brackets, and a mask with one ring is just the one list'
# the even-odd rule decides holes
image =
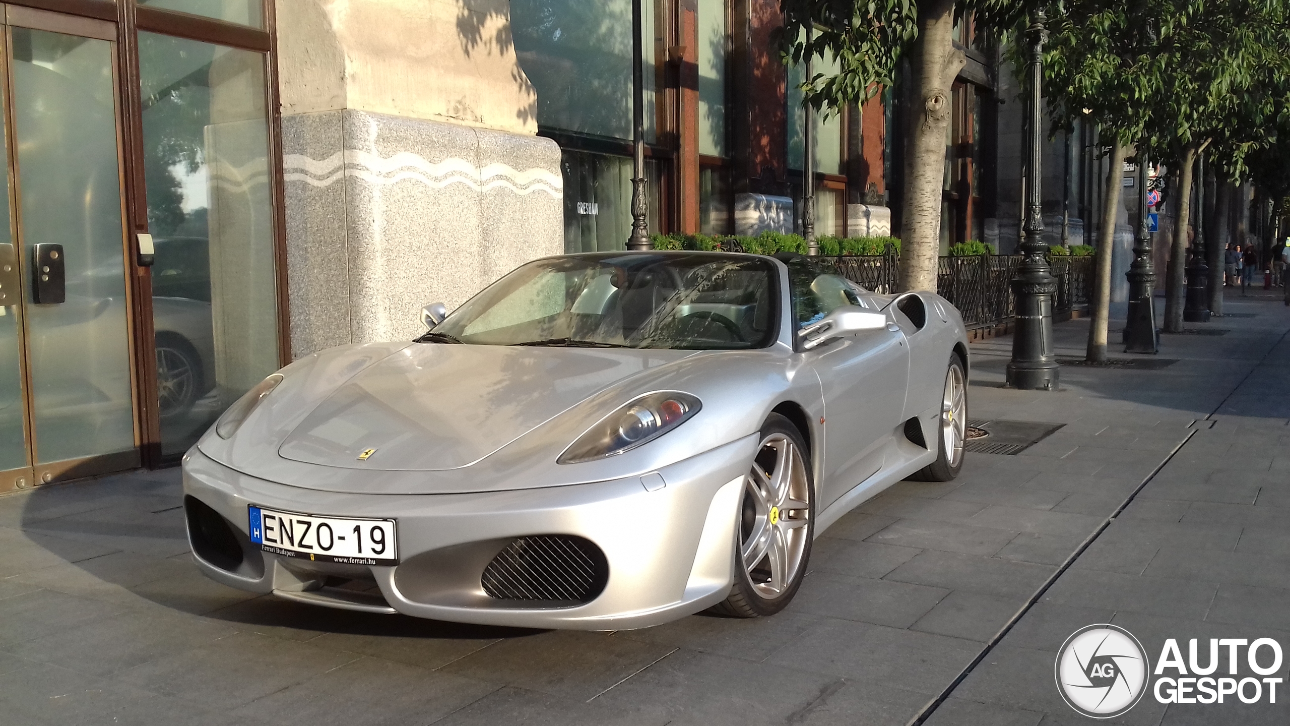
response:
{"label": "pale tree trunk rising directly behind the silver car's rear", "polygon": [[[911,49],[913,103],[908,114],[904,209],[900,229],[900,289],[937,289],[940,256],[940,191],[946,173],[949,89],[966,58],[953,45],[955,3],[918,5],[918,39]],[[921,102],[922,107],[918,109]]]}

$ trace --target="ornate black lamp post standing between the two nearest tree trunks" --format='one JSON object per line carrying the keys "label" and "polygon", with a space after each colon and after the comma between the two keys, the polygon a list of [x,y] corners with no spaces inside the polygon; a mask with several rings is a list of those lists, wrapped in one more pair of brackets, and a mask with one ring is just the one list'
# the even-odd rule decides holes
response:
{"label": "ornate black lamp post standing between the two nearest tree trunks", "polygon": [[1055,390],[1058,382],[1057,357],[1053,355],[1053,296],[1057,280],[1053,278],[1044,245],[1044,196],[1040,189],[1040,155],[1042,152],[1041,76],[1044,72],[1044,12],[1031,14],[1026,35],[1029,40],[1031,96],[1027,109],[1029,138],[1027,140],[1028,196],[1022,260],[1017,276],[1011,280],[1017,301],[1017,332],[1013,335],[1013,359],[1007,363],[1007,385],[1018,389]]}

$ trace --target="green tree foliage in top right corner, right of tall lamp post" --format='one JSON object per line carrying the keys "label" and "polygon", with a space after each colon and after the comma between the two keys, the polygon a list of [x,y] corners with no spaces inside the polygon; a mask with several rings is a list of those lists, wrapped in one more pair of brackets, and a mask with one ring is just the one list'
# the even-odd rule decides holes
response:
{"label": "green tree foliage in top right corner, right of tall lamp post", "polygon": [[[1290,114],[1287,0],[1047,0],[1044,96],[1055,125],[1077,116],[1176,169],[1188,154],[1231,178],[1276,143]],[[1023,28],[1009,56],[1020,71]]]}

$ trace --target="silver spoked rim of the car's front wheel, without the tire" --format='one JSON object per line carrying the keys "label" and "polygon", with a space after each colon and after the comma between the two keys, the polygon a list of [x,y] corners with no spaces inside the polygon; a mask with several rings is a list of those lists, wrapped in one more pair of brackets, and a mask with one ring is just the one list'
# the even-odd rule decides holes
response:
{"label": "silver spoked rim of the car's front wheel, without the tire", "polygon": [[810,481],[791,438],[769,434],[744,477],[739,555],[752,590],[774,599],[793,583],[809,545]]}

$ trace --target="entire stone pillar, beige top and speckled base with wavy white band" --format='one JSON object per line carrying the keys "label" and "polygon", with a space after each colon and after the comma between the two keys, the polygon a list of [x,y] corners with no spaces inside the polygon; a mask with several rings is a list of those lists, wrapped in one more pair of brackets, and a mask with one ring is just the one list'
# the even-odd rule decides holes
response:
{"label": "entire stone pillar, beige top and speckled base with wavy white band", "polygon": [[507,0],[279,0],[277,37],[295,357],[413,337],[564,251]]}

